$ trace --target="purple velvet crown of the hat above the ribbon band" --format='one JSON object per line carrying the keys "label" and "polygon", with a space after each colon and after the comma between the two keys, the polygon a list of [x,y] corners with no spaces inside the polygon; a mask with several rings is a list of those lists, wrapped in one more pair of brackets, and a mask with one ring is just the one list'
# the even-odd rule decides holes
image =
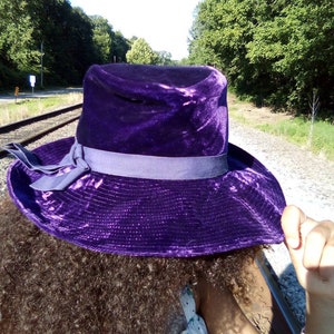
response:
{"label": "purple velvet crown of the hat above the ribbon band", "polygon": [[227,151],[227,81],[214,68],[92,66],[84,91],[84,146],[181,157]]}

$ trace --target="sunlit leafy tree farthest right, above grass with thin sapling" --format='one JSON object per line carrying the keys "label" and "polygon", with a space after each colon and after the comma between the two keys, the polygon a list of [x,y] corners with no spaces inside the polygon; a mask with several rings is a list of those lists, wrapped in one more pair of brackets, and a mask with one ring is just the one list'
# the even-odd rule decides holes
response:
{"label": "sunlit leafy tree farthest right, above grass with thin sapling", "polygon": [[256,67],[269,63],[272,78],[279,78],[272,100],[285,96],[287,106],[308,110],[316,89],[323,107],[333,104],[328,94],[334,88],[333,31],[332,1],[291,2],[258,27],[247,46],[248,59]]}

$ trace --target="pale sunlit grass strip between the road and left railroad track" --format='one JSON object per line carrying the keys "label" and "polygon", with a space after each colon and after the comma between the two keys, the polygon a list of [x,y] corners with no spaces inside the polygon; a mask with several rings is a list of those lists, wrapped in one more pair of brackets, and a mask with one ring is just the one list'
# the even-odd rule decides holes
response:
{"label": "pale sunlit grass strip between the road and left railroad track", "polygon": [[43,98],[19,99],[17,102],[3,102],[0,105],[0,126],[81,101],[82,94],[69,92]]}

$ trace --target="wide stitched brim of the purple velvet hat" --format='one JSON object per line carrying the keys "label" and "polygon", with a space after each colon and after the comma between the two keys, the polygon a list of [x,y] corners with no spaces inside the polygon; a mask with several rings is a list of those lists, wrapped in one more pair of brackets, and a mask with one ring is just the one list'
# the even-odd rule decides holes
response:
{"label": "wide stitched brim of the purple velvet hat", "polygon": [[[73,138],[33,150],[56,164]],[[153,180],[89,173],[61,191],[39,191],[20,161],[8,171],[10,196],[47,233],[97,252],[188,257],[281,243],[279,184],[253,156],[229,144],[229,170],[199,180]]]}

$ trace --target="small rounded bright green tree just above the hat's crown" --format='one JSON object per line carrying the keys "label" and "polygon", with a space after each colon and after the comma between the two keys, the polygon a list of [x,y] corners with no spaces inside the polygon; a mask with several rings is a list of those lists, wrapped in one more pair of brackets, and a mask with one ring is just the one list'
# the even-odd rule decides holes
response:
{"label": "small rounded bright green tree just above the hat's crown", "polygon": [[157,65],[159,57],[144,38],[134,41],[131,49],[126,55],[129,63]]}

